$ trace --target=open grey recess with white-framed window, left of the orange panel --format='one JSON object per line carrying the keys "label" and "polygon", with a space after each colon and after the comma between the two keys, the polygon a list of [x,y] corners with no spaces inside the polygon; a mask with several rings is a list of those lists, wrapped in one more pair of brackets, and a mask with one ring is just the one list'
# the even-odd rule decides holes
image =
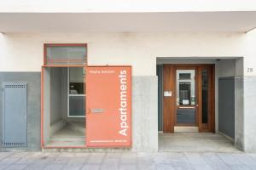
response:
{"label": "open grey recess with white-framed window, left of the orange panel", "polygon": [[44,146],[85,145],[84,67],[44,67]]}

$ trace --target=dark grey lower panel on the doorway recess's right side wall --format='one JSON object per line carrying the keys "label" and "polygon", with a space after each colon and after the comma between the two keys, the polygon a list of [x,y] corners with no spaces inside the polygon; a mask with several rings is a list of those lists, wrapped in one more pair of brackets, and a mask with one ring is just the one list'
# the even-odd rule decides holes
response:
{"label": "dark grey lower panel on the doorway recess's right side wall", "polygon": [[235,138],[235,77],[218,78],[218,131]]}

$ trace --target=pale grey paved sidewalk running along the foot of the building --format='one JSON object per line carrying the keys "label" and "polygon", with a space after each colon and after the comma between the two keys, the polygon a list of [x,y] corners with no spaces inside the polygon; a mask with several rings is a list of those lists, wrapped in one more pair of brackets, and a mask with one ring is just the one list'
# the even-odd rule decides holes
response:
{"label": "pale grey paved sidewalk running along the foot of the building", "polygon": [[0,152],[0,169],[256,169],[256,154]]}

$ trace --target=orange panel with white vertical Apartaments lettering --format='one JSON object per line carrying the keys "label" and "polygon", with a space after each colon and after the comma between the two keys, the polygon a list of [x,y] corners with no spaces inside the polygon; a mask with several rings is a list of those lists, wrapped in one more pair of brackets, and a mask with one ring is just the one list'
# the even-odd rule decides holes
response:
{"label": "orange panel with white vertical Apartaments lettering", "polygon": [[131,66],[87,67],[86,145],[131,146]]}

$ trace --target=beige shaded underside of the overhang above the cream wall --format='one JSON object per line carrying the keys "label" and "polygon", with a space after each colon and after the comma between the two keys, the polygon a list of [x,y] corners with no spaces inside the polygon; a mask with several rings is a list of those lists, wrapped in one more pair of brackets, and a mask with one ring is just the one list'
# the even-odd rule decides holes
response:
{"label": "beige shaded underside of the overhang above the cream wall", "polygon": [[255,12],[0,13],[0,32],[249,31]]}

